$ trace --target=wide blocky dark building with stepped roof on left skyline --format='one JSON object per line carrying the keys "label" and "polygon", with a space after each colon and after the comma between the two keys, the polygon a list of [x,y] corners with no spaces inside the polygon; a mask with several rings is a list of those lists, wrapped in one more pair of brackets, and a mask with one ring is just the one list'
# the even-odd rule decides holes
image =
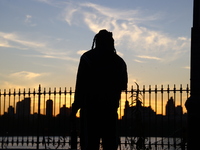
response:
{"label": "wide blocky dark building with stepped roof on left skyline", "polygon": [[24,100],[17,102],[16,115],[18,117],[27,117],[31,112],[31,98],[24,98]]}

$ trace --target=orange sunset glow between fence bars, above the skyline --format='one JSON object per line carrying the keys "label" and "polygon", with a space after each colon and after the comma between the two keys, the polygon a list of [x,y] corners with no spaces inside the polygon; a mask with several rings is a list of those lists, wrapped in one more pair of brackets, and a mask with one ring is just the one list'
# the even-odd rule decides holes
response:
{"label": "orange sunset glow between fence bars, above the skyline", "polygon": [[[131,106],[135,105],[135,97],[131,97],[137,91],[136,86],[131,89],[123,91],[121,94],[120,105],[118,108],[119,119],[124,115],[125,102],[128,101]],[[140,101],[142,106],[151,107],[156,114],[166,115],[166,104],[172,97],[175,107],[182,108],[183,113],[186,113],[185,101],[190,95],[189,86],[173,87],[167,86],[148,86],[140,87]],[[102,89],[102,94],[103,89]],[[52,100],[52,115],[57,116],[60,113],[60,108],[66,107],[71,110],[71,105],[74,101],[74,89],[72,88],[41,88],[38,89],[4,89],[0,91],[0,115],[6,113],[17,113],[17,104],[22,102],[25,98],[30,98],[30,114],[38,113],[38,99],[40,96],[40,114],[46,115],[47,100]],[[94,100],[95,102],[95,100]],[[106,105],[106,104],[105,104]],[[13,111],[13,112],[12,112]],[[95,114],[94,114],[95,115]],[[79,115],[77,115],[79,116]]]}

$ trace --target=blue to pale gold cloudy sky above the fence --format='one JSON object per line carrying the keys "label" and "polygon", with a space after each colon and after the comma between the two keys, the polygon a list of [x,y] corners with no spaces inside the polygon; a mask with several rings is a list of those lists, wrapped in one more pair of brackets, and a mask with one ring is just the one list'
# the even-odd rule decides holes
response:
{"label": "blue to pale gold cloudy sky above the fence", "polygon": [[190,83],[192,0],[1,0],[0,89],[74,87],[81,54],[113,32],[129,87]]}

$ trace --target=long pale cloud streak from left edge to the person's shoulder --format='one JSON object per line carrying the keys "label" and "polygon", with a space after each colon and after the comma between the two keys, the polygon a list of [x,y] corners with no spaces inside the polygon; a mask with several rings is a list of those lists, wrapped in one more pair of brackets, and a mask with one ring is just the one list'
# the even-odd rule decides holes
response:
{"label": "long pale cloud streak from left edge to the person's shoulder", "polygon": [[38,53],[37,55],[24,56],[78,61],[77,58],[70,56],[70,51],[66,51],[65,49],[54,49],[57,45],[52,45],[53,42],[51,41],[55,40],[43,37],[42,40],[33,41],[30,37],[23,37],[23,35],[20,35],[19,33],[0,32],[0,47],[32,50]]}

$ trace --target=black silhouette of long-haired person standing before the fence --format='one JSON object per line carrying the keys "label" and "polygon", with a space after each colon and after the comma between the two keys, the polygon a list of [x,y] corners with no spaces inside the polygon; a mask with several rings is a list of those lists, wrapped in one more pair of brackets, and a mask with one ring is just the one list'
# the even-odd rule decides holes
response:
{"label": "black silhouette of long-haired person standing before the fence", "polygon": [[[95,46],[95,48],[94,48]],[[81,56],[71,117],[81,109],[81,149],[116,150],[117,109],[127,88],[126,63],[116,54],[112,32],[101,30]]]}

